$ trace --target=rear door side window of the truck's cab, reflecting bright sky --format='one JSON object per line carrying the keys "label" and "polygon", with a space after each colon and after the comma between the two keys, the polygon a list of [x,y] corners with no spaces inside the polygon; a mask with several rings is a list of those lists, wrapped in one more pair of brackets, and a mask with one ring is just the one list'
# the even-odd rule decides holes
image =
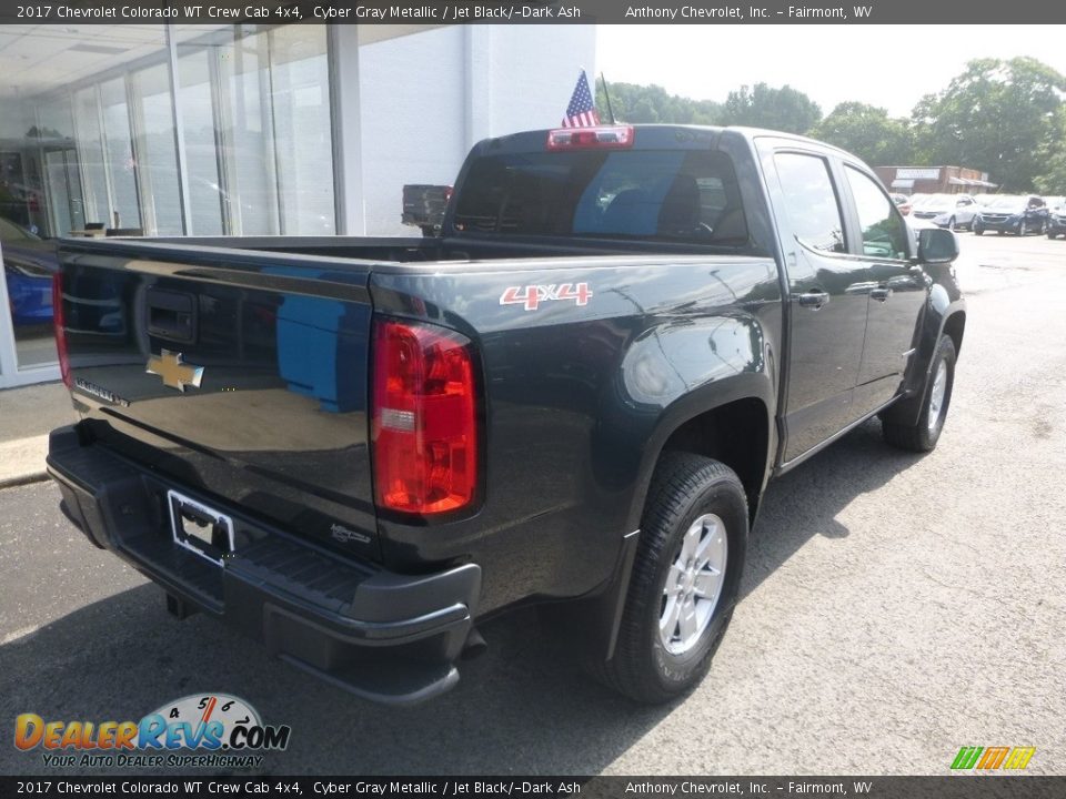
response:
{"label": "rear door side window of the truck's cab, reflecting bright sky", "polygon": [[813,250],[847,252],[841,208],[825,159],[780,152],[774,155],[774,165],[796,237]]}

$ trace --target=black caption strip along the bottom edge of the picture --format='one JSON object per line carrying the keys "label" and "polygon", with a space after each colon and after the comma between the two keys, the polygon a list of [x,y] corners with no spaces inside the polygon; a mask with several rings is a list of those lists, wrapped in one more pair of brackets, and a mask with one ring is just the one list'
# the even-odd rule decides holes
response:
{"label": "black caption strip along the bottom edge of the picture", "polygon": [[0,777],[0,797],[582,797],[582,799],[1040,799],[1066,796],[1066,777],[955,773],[946,777]]}

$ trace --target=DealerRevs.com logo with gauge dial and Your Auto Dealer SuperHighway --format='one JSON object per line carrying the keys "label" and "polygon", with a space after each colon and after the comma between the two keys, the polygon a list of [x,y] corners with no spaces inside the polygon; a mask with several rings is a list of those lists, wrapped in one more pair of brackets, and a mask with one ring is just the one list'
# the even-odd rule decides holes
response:
{"label": "DealerRevs.com logo with gauge dial and Your Auto Dealer SuperHighway", "polygon": [[291,734],[288,725],[264,725],[255,708],[228,694],[187,696],[140,721],[44,720],[31,712],[14,720],[14,746],[41,749],[51,767],[249,768],[262,763],[260,752],[285,749]]}

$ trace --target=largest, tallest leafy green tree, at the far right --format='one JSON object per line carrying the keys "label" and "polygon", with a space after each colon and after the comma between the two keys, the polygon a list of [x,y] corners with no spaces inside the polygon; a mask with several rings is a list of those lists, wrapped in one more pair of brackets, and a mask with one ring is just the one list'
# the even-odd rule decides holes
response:
{"label": "largest, tallest leafy green tree, at the far right", "polygon": [[929,163],[979,169],[1007,191],[1027,191],[1062,151],[1064,93],[1066,78],[1036,59],[971,61],[915,107],[919,151]]}

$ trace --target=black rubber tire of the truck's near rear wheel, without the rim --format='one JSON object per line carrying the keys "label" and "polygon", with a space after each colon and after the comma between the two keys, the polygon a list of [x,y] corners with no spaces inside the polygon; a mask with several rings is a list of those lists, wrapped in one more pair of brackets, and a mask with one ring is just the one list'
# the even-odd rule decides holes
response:
{"label": "black rubber tire of the truck's near rear wheel, without the rim", "polygon": [[[660,635],[666,580],[685,533],[707,514],[725,527],[724,578],[706,627],[685,651],[674,654]],[[717,461],[665,453],[652,478],[640,536],[614,657],[590,664],[590,670],[632,699],[658,704],[703,679],[733,617],[747,546],[747,498],[740,478]]]}

